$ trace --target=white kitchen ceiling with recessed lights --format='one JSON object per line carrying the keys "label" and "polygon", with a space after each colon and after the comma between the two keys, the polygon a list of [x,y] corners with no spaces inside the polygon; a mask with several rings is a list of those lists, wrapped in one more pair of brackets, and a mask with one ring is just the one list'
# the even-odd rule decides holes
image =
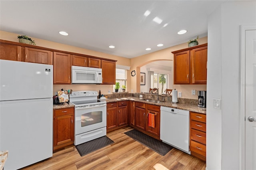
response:
{"label": "white kitchen ceiling with recessed lights", "polygon": [[[207,36],[207,17],[223,2],[1,0],[0,30],[133,58]],[[147,10],[150,14],[144,16]],[[154,22],[155,17],[162,22]],[[183,29],[188,32],[178,35]],[[62,36],[60,31],[69,35]],[[159,43],[164,45],[157,47]]]}

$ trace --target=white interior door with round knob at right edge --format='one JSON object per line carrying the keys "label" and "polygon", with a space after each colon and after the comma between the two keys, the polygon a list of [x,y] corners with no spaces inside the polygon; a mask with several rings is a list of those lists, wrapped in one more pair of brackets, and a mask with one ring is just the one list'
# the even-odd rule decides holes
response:
{"label": "white interior door with round knob at right edge", "polygon": [[246,30],[245,44],[245,169],[256,170],[256,30]]}

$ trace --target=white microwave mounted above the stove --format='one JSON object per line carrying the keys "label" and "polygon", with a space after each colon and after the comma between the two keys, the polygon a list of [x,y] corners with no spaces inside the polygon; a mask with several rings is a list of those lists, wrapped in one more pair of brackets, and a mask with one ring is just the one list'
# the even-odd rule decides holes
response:
{"label": "white microwave mounted above the stove", "polygon": [[101,84],[102,69],[72,66],[72,84]]}

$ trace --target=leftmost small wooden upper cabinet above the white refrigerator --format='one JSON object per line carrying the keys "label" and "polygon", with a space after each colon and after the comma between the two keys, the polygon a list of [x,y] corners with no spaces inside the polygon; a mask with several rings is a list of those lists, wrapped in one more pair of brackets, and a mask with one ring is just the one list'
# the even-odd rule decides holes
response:
{"label": "leftmost small wooden upper cabinet above the white refrigerator", "polygon": [[21,46],[0,43],[0,59],[21,61]]}

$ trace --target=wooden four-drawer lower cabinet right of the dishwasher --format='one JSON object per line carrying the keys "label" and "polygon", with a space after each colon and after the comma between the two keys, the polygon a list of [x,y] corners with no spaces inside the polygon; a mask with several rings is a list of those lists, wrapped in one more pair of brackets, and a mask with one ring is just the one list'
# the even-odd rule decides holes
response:
{"label": "wooden four-drawer lower cabinet right of the dishwasher", "polygon": [[206,114],[190,112],[190,151],[206,161]]}

